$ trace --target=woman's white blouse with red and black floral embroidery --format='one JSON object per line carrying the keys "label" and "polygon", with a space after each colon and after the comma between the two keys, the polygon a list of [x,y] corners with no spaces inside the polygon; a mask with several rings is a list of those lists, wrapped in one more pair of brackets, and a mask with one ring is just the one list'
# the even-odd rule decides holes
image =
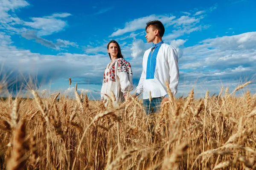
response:
{"label": "woman's white blouse with red and black floral embroidery", "polygon": [[[116,101],[113,103],[117,105],[119,102],[124,102],[124,96],[128,91],[132,91],[134,88],[132,83],[132,70],[129,62],[123,58],[117,58],[112,65],[107,65],[104,71],[103,83],[101,89],[102,100],[108,101],[108,96],[111,96],[111,91],[116,97]],[[106,95],[108,96],[106,96]]]}

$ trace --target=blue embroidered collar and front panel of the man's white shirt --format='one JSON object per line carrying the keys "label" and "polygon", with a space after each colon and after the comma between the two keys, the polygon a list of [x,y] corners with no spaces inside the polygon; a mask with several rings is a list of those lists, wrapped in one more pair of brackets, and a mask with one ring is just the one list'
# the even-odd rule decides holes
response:
{"label": "blue embroidered collar and front panel of the man's white shirt", "polygon": [[152,48],[155,48],[155,49],[152,55],[151,55],[151,51],[152,51],[152,48],[151,48],[151,51],[148,55],[146,79],[154,79],[154,72],[156,70],[156,65],[157,65],[157,53],[162,44],[163,44],[163,41],[160,41],[157,44],[153,44]]}

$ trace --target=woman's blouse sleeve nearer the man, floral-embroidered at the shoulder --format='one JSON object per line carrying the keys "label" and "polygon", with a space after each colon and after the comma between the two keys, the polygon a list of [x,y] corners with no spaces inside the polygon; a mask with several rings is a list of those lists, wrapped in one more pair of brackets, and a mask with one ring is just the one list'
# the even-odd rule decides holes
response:
{"label": "woman's blouse sleeve nearer the man, floral-embroidered at the shoulder", "polygon": [[117,76],[119,77],[121,91],[126,96],[127,92],[132,91],[134,86],[132,84],[131,65],[122,58],[118,59]]}

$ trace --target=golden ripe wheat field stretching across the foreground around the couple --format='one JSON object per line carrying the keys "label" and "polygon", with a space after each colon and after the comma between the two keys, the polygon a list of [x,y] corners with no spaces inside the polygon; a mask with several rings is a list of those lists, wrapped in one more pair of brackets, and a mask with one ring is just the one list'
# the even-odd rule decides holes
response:
{"label": "golden ripe wheat field stretching across the foreground around the couple", "polygon": [[235,95],[249,83],[202,99],[168,89],[169,101],[149,116],[132,96],[118,108],[77,91],[10,96],[0,100],[0,169],[256,169],[256,94]]}

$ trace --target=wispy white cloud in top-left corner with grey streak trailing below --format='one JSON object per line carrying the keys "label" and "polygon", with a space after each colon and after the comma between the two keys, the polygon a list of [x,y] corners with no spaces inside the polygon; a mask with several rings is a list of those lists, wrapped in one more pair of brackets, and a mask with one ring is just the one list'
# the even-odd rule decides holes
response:
{"label": "wispy white cloud in top-left corner with grey streak trailing below", "polygon": [[[56,43],[46,40],[40,36],[49,35],[64,29],[67,26],[67,22],[58,18],[65,18],[70,16],[69,13],[55,13],[45,17],[32,17],[33,22],[26,22],[18,18],[15,14],[15,10],[29,6],[24,0],[2,0],[0,1],[0,24],[6,33],[9,34],[21,34],[22,37],[28,40],[35,40],[35,42],[41,45],[47,46],[52,49],[59,50],[60,47],[73,46],[78,47],[75,42],[58,39]],[[2,15],[1,15],[2,14]],[[15,25],[20,25],[16,27]],[[37,30],[28,29],[35,28]]]}

